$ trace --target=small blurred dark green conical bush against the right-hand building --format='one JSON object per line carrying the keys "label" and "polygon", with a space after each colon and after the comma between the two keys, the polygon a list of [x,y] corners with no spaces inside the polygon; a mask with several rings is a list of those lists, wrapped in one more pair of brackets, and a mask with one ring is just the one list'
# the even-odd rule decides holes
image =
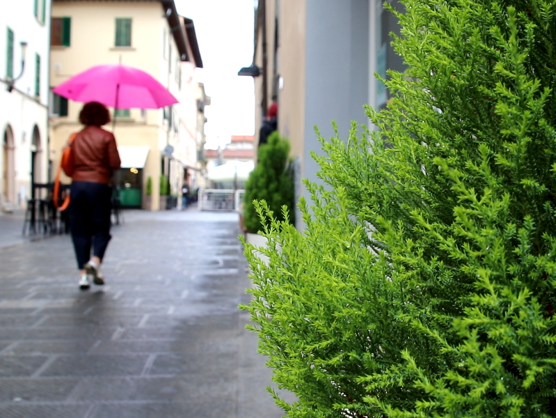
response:
{"label": "small blurred dark green conical bush against the right-hand building", "polygon": [[[259,147],[258,162],[245,186],[244,217],[247,231],[256,233],[262,229],[253,201],[266,201],[278,219],[283,220],[282,206],[289,212],[294,207],[294,173],[289,162],[289,142],[278,132],[269,136],[269,141]],[[290,219],[293,223],[293,219]]]}

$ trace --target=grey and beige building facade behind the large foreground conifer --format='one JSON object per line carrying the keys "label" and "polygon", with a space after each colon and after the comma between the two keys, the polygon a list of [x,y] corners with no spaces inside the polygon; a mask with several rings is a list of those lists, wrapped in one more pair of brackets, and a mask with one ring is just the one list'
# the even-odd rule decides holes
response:
{"label": "grey and beige building facade behind the large foreground conifer", "polygon": [[[401,10],[398,0],[389,1]],[[375,72],[403,70],[390,45],[399,33],[397,19],[382,0],[258,0],[253,64],[255,142],[269,104],[278,102],[278,132],[291,144],[295,161],[296,199],[307,196],[302,179],[319,182],[321,153],[315,125],[325,138],[332,121],[347,139],[351,121],[369,125],[363,107],[386,105],[388,93]],[[265,58],[266,57],[266,58]],[[298,228],[303,227],[296,215]]]}

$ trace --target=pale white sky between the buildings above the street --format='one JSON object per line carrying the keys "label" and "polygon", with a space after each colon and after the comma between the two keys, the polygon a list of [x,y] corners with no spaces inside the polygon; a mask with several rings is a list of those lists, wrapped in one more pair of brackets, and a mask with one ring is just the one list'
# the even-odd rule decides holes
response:
{"label": "pale white sky between the buildings above the street", "polygon": [[195,24],[203,65],[195,80],[211,98],[205,107],[206,148],[224,146],[232,135],[253,135],[253,77],[237,75],[253,62],[253,0],[175,0],[175,5]]}

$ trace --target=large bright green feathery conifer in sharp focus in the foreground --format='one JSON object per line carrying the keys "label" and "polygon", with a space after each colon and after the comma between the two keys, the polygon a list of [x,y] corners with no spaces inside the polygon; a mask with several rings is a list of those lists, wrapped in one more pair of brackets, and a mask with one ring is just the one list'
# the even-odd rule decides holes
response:
{"label": "large bright green feathery conifer in sharp focus in the foreground", "polygon": [[[556,417],[556,15],[404,0],[380,130],[321,138],[306,229],[246,246],[289,417]],[[392,10],[394,13],[394,10]],[[264,203],[260,216],[269,216]],[[287,219],[287,210],[284,210]]]}

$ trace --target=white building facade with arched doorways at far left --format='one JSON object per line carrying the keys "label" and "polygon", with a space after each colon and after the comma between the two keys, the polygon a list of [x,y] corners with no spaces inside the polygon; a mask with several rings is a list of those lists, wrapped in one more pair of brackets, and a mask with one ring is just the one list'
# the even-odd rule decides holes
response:
{"label": "white building facade with arched doorways at far left", "polygon": [[2,3],[0,210],[24,208],[49,177],[50,0]]}

